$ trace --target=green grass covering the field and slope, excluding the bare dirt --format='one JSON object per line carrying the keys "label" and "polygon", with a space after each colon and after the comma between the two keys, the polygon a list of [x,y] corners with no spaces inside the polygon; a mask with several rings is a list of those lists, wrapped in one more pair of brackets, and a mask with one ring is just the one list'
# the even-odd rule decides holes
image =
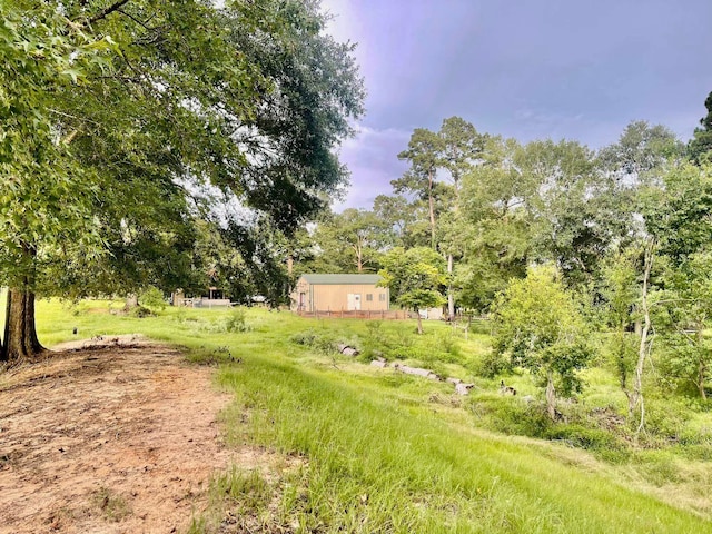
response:
{"label": "green grass covering the field and slope, excluding the bare dirt", "polygon": [[[185,346],[191,359],[218,364],[216,383],[235,396],[221,415],[228,443],[301,458],[300,468],[269,479],[239,469],[217,477],[214,506],[233,526],[249,516],[251,526],[261,525],[263,532],[712,530],[709,457],[670,448],[640,451],[616,464],[565,439],[496,432],[503,417],[520,417],[523,402],[501,397],[496,378],[475,375],[490,343],[484,328],[465,340],[445,324],[426,323],[426,335],[415,339],[411,322],[314,320],[255,309],[243,312],[237,332],[228,332],[235,312],[169,308],[139,319],[112,315],[118,307],[41,301],[40,339],[71,339],[77,327],[80,338],[142,333]],[[304,333],[357,344],[368,354],[355,360],[329,352],[328,343],[295,343]],[[375,352],[473,380],[479,390],[464,400],[449,385],[365,365]],[[604,372],[589,378],[593,405],[612,396],[620,402]],[[526,375],[510,382],[525,394],[537,392]],[[704,428],[709,421],[699,416],[694,424]],[[218,527],[197,517],[191,532]]]}

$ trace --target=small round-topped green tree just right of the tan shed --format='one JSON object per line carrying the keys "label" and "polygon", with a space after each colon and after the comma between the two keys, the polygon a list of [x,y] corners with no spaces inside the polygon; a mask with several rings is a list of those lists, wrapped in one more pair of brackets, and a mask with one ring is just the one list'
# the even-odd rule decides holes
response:
{"label": "small round-topped green tree just right of the tan shed", "polygon": [[446,283],[443,257],[427,247],[392,249],[383,258],[382,286],[390,289],[390,298],[418,317],[418,334],[423,334],[419,309],[441,306]]}

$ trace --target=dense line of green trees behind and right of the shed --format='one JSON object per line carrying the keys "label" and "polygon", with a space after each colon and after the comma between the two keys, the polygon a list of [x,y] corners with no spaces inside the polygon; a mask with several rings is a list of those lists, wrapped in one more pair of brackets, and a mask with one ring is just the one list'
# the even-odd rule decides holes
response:
{"label": "dense line of green trees behind and right of the shed", "polygon": [[[492,373],[528,367],[548,384],[547,397],[575,390],[575,370],[603,352],[629,415],[642,419],[643,366],[655,338],[665,387],[706,399],[712,95],[705,105],[686,145],[644,121],[599,150],[573,140],[522,144],[457,117],[438,131],[416,129],[398,155],[409,169],[392,181],[393,195],[303,229],[295,268],[379,271],[388,284],[419,269],[434,281],[417,289],[438,291],[452,316],[497,319]],[[398,301],[417,307],[425,300],[414,303],[416,293]],[[596,330],[603,345],[584,343]]]}

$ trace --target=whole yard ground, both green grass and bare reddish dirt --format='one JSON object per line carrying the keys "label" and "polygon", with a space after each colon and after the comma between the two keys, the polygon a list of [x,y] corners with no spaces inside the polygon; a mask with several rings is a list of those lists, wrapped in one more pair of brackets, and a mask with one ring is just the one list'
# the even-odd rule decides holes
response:
{"label": "whole yard ground, both green grass and bare reddish dirt", "polygon": [[[465,339],[432,322],[418,337],[415,322],[263,309],[135,318],[112,313],[118,307],[40,303],[46,345],[75,339],[77,328],[76,338],[102,336],[109,346],[0,375],[3,448],[31,447],[26,456],[2,453],[0,486],[16,487],[2,492],[3,525],[404,533],[711,526],[709,443],[633,449],[595,433],[591,443],[576,441],[571,428],[527,437],[531,428],[517,424],[537,421],[522,416],[531,409],[523,397],[537,388],[515,375],[507,383],[518,395],[502,396],[498,379],[479,377],[486,326]],[[111,346],[119,334],[166,345],[136,338],[136,346]],[[333,352],[336,342],[362,355]],[[377,354],[476,388],[463,397],[451,384],[368,365]],[[605,370],[592,369],[587,380],[590,412],[623,402]],[[12,445],[6,432],[26,415],[37,428]],[[216,417],[219,426],[210,426]],[[688,427],[703,433],[709,414],[691,416]],[[61,484],[75,490],[62,493]]]}

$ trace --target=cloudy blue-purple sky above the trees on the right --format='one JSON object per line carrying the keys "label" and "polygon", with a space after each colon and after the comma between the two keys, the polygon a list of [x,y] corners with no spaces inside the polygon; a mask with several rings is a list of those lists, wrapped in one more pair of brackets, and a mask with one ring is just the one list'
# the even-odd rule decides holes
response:
{"label": "cloudy blue-purple sky above the trees on the right", "polygon": [[712,91],[712,0],[322,0],[357,43],[366,115],[340,148],[370,208],[407,169],[415,128],[458,116],[483,134],[615,142],[633,120],[688,140]]}

